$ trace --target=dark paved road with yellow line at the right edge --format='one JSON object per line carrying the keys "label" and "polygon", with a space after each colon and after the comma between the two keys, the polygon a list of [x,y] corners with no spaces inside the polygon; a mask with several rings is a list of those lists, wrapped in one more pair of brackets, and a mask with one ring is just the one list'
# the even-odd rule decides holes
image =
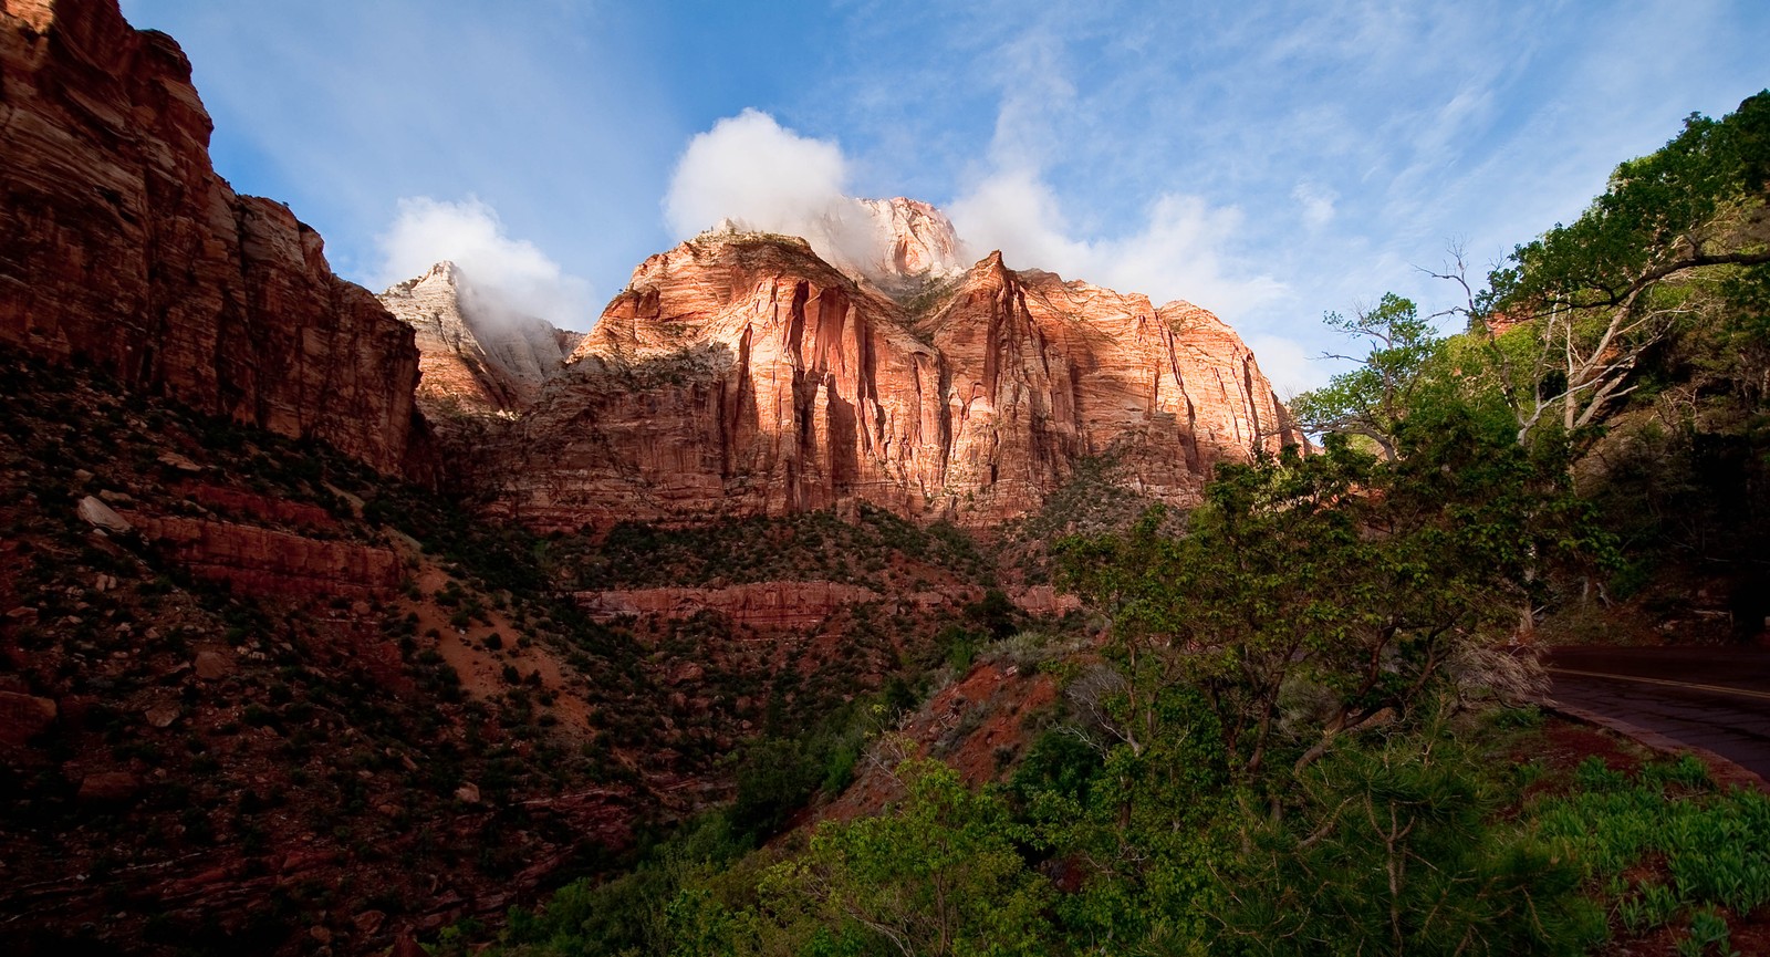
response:
{"label": "dark paved road with yellow line at the right edge", "polygon": [[1770,780],[1770,649],[1556,647],[1556,701],[1708,748]]}

